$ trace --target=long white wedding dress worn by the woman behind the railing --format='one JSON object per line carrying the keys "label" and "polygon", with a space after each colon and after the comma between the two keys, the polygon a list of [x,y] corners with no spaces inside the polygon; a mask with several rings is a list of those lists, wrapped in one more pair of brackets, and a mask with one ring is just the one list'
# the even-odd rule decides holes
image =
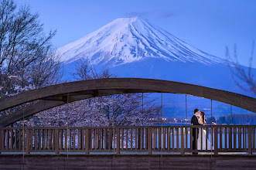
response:
{"label": "long white wedding dress worn by the woman behind the railing", "polygon": [[[199,122],[200,124],[203,124],[202,121]],[[202,144],[201,139],[203,138]],[[211,147],[211,143],[209,139],[207,139],[207,145],[206,145],[206,138],[207,138],[207,131],[203,128],[199,128],[198,131],[198,138],[197,138],[197,150],[211,150],[213,147]],[[203,145],[203,147],[201,147]],[[206,149],[207,148],[207,149]]]}

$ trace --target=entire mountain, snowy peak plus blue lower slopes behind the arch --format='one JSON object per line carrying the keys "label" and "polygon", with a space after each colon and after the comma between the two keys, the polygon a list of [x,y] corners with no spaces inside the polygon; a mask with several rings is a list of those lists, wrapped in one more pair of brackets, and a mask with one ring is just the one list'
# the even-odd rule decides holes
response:
{"label": "entire mountain, snowy peak plus blue lower slopes behind the arch", "polygon": [[[64,75],[69,79],[76,61],[89,59],[96,70],[108,68],[117,77],[172,80],[252,95],[234,83],[227,60],[204,53],[138,17],[115,19],[57,49],[57,53],[64,64]],[[183,97],[176,96],[175,102],[166,98],[169,102],[166,107],[184,105]],[[191,110],[196,106],[206,107],[194,100],[192,103]],[[176,110],[172,112],[179,114]],[[217,111],[223,112],[223,108]]]}

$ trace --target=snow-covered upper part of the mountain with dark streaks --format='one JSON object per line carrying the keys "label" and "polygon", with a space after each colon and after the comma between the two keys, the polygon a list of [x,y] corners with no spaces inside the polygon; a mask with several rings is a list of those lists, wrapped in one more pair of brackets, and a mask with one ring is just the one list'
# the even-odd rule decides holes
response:
{"label": "snow-covered upper part of the mountain with dark streaks", "polygon": [[108,65],[108,67],[132,63],[148,57],[184,63],[224,62],[189,46],[169,32],[138,17],[115,19],[101,29],[57,51],[65,63],[88,58],[94,65]]}

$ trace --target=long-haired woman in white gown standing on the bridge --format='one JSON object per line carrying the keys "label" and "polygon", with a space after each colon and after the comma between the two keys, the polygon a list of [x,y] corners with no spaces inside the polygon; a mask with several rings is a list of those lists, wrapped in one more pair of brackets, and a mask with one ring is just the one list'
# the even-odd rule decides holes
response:
{"label": "long-haired woman in white gown standing on the bridge", "polygon": [[[197,117],[197,118],[198,118],[198,123],[199,124],[205,125],[205,114],[204,114],[204,112],[200,112],[200,117]],[[213,148],[211,148],[211,143],[208,139],[207,139],[207,149],[206,149],[207,131],[204,130],[203,128],[199,128],[198,132],[199,133],[198,133],[198,138],[197,138],[197,150],[211,150],[211,149],[213,149]],[[203,138],[203,140],[202,140],[202,138]],[[201,140],[202,140],[203,147],[201,147]]]}

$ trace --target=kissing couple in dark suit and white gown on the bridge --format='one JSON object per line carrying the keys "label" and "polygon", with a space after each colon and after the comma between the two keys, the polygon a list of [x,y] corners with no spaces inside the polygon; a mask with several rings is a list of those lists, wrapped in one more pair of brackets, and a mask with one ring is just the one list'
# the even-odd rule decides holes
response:
{"label": "kissing couple in dark suit and white gown on the bridge", "polygon": [[[194,115],[191,118],[191,125],[205,125],[205,114],[204,112],[200,112],[200,110],[195,109]],[[210,141],[207,139],[206,145],[206,138],[207,138],[207,131],[203,128],[197,128],[197,138],[196,138],[196,128],[193,128],[193,150],[196,150],[196,143],[197,143],[197,150],[211,150]],[[202,140],[203,139],[203,140]],[[201,140],[203,141],[201,144]],[[207,148],[206,148],[207,146]],[[198,152],[193,152],[193,155],[197,155]]]}

